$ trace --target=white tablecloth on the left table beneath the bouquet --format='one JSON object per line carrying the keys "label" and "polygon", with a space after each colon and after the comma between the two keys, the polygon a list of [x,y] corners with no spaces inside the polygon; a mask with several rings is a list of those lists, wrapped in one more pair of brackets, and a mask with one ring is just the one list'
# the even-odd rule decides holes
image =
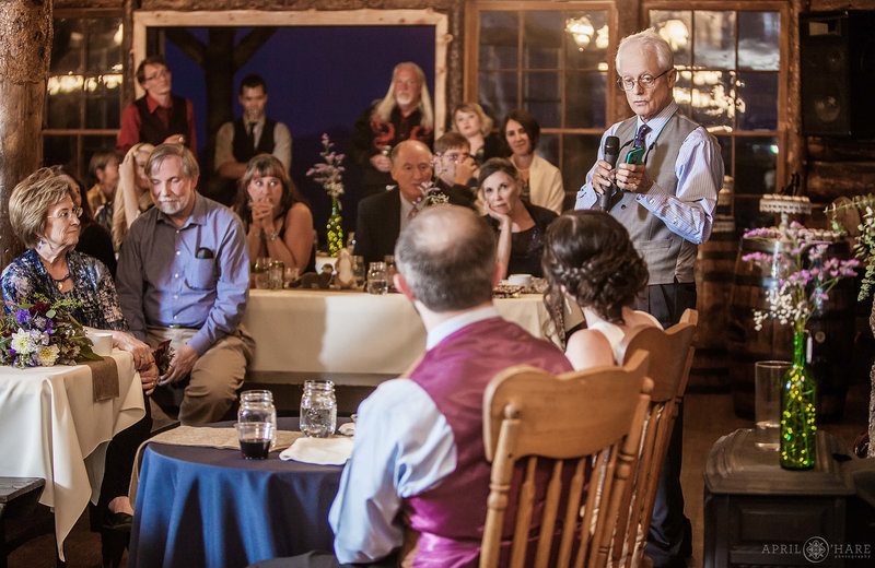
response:
{"label": "white tablecloth on the left table beneath the bouquet", "polygon": [[114,351],[119,397],[94,402],[91,369],[0,367],[0,475],[43,477],[39,502],[55,508],[63,540],[103,480],[108,440],[143,417],[143,390],[130,353]]}

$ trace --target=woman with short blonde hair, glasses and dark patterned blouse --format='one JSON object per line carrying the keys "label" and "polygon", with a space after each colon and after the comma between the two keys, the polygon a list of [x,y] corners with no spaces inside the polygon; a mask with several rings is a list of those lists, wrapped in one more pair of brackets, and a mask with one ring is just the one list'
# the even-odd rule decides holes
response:
{"label": "woman with short blonde hair, glasses and dark patterned blouse", "polygon": [[[74,299],[80,306],[70,315],[88,328],[107,330],[113,345],[133,354],[144,394],[151,394],[158,380],[152,350],[126,333],[113,277],[106,264],[74,250],[79,242],[82,208],[73,200],[70,177],[40,168],[15,186],[9,199],[9,221],[19,239],[30,247],[9,263],[0,275],[7,312],[12,312],[36,295],[49,303]],[[147,409],[149,403],[147,402]],[[130,530],[133,510],[127,497],[133,455],[149,436],[147,416],[118,433],[106,451],[106,471],[101,487],[98,514],[106,530]]]}

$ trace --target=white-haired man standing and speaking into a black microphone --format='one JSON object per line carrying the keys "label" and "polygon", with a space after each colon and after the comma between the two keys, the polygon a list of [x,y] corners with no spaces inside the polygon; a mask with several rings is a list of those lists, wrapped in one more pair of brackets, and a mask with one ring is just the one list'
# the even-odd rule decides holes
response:
{"label": "white-haired man standing and speaking into a black microphone", "polygon": [[[668,328],[696,307],[697,245],[711,235],[712,214],[723,182],[716,139],[680,115],[672,95],[677,80],[674,54],[653,29],[626,37],[617,50],[617,84],[635,116],[610,127],[598,161],[578,193],[576,209],[596,206],[617,217],[650,270],[646,295],[634,306]],[[604,159],[604,141],[619,138],[616,169]],[[612,191],[611,182],[618,190]],[[660,481],[646,554],[655,566],[682,566],[690,553],[690,524],[680,493],[682,412],[675,424]]]}

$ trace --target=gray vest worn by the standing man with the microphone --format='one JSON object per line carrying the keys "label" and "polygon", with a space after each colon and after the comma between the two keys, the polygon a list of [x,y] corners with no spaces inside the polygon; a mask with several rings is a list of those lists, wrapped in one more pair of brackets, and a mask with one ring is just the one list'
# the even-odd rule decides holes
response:
{"label": "gray vest worn by the standing man with the microphone", "polygon": [[[637,123],[638,117],[632,117],[617,127],[616,135],[620,139],[621,147],[617,164],[625,163],[626,155],[632,149]],[[697,128],[700,128],[699,125],[675,113],[656,142],[646,150],[644,165],[648,174],[670,194],[677,191],[675,162],[680,145]],[[648,262],[650,284],[672,284],[675,279],[678,282],[693,282],[697,246],[672,233],[660,217],[635,201],[635,193],[620,194],[622,198],[610,208],[610,214],[626,226],[635,249]]]}

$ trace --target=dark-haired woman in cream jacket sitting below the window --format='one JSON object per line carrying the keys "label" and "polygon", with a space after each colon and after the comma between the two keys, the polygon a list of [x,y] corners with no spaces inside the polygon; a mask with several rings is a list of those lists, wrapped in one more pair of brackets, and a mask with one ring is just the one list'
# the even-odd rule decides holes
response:
{"label": "dark-haired woman in cream jacket sitting below the window", "polygon": [[535,154],[540,141],[540,125],[530,113],[511,110],[501,123],[501,131],[511,149],[511,162],[523,179],[523,200],[562,212],[565,190],[559,168]]}

